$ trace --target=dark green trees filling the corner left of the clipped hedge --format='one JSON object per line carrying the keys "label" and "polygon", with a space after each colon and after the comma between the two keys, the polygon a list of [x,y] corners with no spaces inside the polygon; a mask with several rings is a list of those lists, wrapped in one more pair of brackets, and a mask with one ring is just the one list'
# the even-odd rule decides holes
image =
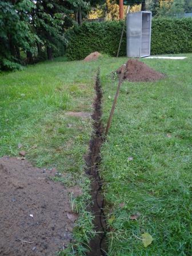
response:
{"label": "dark green trees filling the corner left of the clipped hedge", "polygon": [[63,55],[63,34],[73,26],[78,9],[85,16],[90,1],[0,1],[0,69],[17,69],[24,63]]}

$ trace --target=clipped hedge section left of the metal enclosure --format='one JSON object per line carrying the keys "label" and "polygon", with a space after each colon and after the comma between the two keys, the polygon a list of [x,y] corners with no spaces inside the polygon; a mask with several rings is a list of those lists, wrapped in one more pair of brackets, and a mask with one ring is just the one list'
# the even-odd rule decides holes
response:
{"label": "clipped hedge section left of the metal enclosure", "polygon": [[[93,51],[114,56],[117,54],[123,22],[91,22],[74,27],[66,34],[69,39],[67,57],[83,59]],[[120,55],[125,55],[126,37],[123,37]]]}

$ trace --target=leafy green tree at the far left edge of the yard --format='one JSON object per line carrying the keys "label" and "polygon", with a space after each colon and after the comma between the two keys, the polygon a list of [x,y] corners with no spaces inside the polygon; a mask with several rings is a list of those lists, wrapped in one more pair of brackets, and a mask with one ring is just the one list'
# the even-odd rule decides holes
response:
{"label": "leafy green tree at the far left edge of the yard", "polygon": [[33,49],[38,37],[30,26],[33,1],[12,0],[0,2],[0,68],[14,69],[21,63],[20,50]]}

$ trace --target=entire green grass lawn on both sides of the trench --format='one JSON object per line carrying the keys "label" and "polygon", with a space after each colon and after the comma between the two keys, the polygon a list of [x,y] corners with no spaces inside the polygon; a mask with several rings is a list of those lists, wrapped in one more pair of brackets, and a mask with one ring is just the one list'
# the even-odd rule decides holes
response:
{"label": "entire green grass lawn on both sides of the trench", "polygon": [[[100,167],[109,256],[192,255],[192,55],[187,57],[142,59],[166,78],[122,84]],[[0,75],[0,156],[18,156],[21,143],[34,165],[56,167],[65,173],[59,178],[65,185],[82,187],[83,196],[71,200],[80,213],[74,230],[78,256],[93,235],[91,215],[85,209],[90,196],[83,159],[92,128],[90,118],[67,112],[91,113],[100,66],[106,123],[117,87],[111,71],[126,60],[103,57],[84,63],[59,58]],[[31,149],[34,145],[37,148]],[[131,220],[135,214],[137,220]],[[147,248],[141,241],[145,232],[154,239]]]}

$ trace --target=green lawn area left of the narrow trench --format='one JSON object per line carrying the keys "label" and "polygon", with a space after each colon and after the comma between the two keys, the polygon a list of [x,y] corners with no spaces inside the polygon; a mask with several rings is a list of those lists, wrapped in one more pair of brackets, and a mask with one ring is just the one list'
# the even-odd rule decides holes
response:
{"label": "green lawn area left of the narrow trench", "polygon": [[25,150],[26,159],[35,166],[56,168],[65,174],[58,181],[82,187],[83,196],[76,201],[71,198],[73,209],[79,212],[74,233],[81,255],[82,243],[93,233],[91,215],[86,211],[91,197],[83,159],[92,122],[91,117],[71,117],[67,113],[91,114],[97,64],[62,60],[0,75],[0,157],[18,157],[19,151]]}

